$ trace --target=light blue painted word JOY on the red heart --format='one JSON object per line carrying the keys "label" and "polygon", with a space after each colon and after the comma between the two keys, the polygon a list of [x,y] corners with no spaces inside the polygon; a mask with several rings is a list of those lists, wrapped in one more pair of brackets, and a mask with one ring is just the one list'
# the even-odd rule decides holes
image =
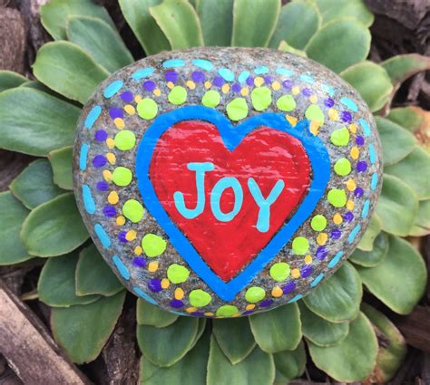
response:
{"label": "light blue painted word JOY on the red heart", "polygon": [[[196,188],[197,188],[197,205],[194,208],[185,206],[185,199],[181,191],[176,191],[173,194],[175,207],[180,212],[182,217],[193,219],[199,217],[203,212],[206,205],[206,197],[204,194],[204,180],[205,173],[214,169],[211,162],[191,162],[188,163],[187,168],[196,173]],[[270,206],[278,199],[280,193],[284,189],[285,183],[283,180],[278,180],[271,189],[268,197],[263,197],[259,185],[254,178],[248,179],[248,188],[252,197],[254,198],[257,206],[259,207],[259,217],[257,219],[257,229],[260,233],[269,231],[270,222]],[[220,209],[220,198],[227,188],[232,188],[234,192],[234,207],[228,213],[223,213]],[[234,177],[224,177],[215,184],[210,192],[210,209],[212,214],[220,222],[230,222],[236,217],[242,207],[243,203],[243,190],[240,186],[239,180]]]}

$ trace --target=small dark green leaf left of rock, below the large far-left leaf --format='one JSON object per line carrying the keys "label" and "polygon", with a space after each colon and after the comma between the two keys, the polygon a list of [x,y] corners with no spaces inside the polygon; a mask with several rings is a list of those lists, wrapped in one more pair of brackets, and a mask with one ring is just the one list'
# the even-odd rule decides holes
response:
{"label": "small dark green leaf left of rock, below the large far-left leaf", "polygon": [[30,163],[10,185],[12,193],[30,209],[64,193],[53,182],[53,169],[46,159]]}

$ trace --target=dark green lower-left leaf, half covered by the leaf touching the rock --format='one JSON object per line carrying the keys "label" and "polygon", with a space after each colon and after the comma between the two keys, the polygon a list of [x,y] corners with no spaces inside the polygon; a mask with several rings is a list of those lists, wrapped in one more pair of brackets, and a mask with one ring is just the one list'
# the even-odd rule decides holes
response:
{"label": "dark green lower-left leaf, half covered by the leaf touching the rock", "polygon": [[37,283],[39,299],[49,306],[69,307],[73,304],[93,303],[100,295],[76,295],[75,277],[79,255],[61,255],[49,259]]}

